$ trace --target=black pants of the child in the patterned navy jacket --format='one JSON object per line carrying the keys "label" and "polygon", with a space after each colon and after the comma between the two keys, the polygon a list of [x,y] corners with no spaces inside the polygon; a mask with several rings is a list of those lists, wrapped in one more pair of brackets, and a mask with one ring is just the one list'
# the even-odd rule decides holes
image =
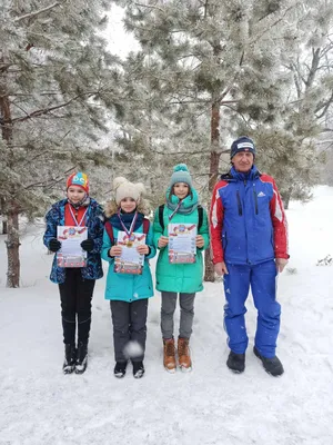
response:
{"label": "black pants of the child in the patterned navy jacket", "polygon": [[78,343],[88,343],[94,281],[82,278],[80,268],[65,270],[65,281],[59,285],[64,344],[75,343],[77,323]]}

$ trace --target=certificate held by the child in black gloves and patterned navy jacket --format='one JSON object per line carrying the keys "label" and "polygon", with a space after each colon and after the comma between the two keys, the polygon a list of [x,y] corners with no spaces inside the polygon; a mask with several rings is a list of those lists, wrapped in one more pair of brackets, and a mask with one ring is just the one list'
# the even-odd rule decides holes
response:
{"label": "certificate held by the child in black gloves and patterned navy jacket", "polygon": [[61,248],[57,253],[59,267],[87,266],[87,251],[80,245],[88,238],[88,227],[58,226],[57,238],[61,241]]}

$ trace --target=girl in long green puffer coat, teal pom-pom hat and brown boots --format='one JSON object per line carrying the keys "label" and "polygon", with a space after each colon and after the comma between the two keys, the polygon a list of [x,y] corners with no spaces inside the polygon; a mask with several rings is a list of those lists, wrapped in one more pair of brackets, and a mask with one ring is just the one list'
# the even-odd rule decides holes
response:
{"label": "girl in long green puffer coat, teal pom-pom hat and brown boots", "polygon": [[[169,258],[169,224],[196,225],[196,255],[194,263],[173,264]],[[192,362],[189,339],[192,334],[195,293],[203,289],[202,251],[209,247],[209,226],[206,211],[199,206],[198,194],[192,186],[188,167],[180,164],[174,167],[167,190],[167,201],[159,207],[154,216],[154,244],[160,249],[157,265],[157,289],[161,291],[161,329],[164,345],[163,364],[167,370],[176,368],[173,338],[173,315],[179,294],[180,330],[178,338],[178,358],[182,370],[191,370]]]}

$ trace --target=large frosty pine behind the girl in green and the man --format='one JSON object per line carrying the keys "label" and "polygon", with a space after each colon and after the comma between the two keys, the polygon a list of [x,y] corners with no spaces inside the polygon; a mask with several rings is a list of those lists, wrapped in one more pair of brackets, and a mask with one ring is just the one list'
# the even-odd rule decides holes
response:
{"label": "large frosty pine behind the girl in green and the man", "polygon": [[[175,145],[195,158],[196,171],[208,178],[211,195],[221,162],[229,164],[225,136],[240,123],[281,122],[283,91],[291,76],[280,60],[290,47],[289,29],[295,22],[293,0],[242,1],[118,1],[125,7],[127,29],[142,47],[140,57],[153,70],[160,101],[155,112],[172,117],[178,126]],[[155,105],[155,103],[153,103]],[[195,125],[194,122],[199,122]],[[140,128],[140,125],[139,125]],[[248,130],[249,132],[249,130]],[[223,142],[221,142],[221,135]],[[164,134],[162,138],[164,138]],[[165,140],[168,155],[176,156],[173,136]],[[198,137],[196,137],[198,136]],[[203,178],[201,178],[202,181]],[[202,181],[203,182],[203,181]],[[203,187],[205,184],[202,184]],[[213,280],[206,255],[205,279]]]}

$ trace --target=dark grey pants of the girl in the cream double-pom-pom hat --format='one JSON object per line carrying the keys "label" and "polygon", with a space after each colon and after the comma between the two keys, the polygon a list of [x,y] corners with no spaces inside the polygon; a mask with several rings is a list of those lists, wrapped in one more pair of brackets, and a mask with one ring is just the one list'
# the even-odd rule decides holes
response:
{"label": "dark grey pants of the girl in the cream double-pom-pom hat", "polygon": [[[132,362],[142,362],[147,338],[148,298],[132,303],[111,300],[110,306],[115,362],[127,362],[129,357]],[[135,345],[133,348],[129,347],[129,342],[137,342],[139,348]]]}

